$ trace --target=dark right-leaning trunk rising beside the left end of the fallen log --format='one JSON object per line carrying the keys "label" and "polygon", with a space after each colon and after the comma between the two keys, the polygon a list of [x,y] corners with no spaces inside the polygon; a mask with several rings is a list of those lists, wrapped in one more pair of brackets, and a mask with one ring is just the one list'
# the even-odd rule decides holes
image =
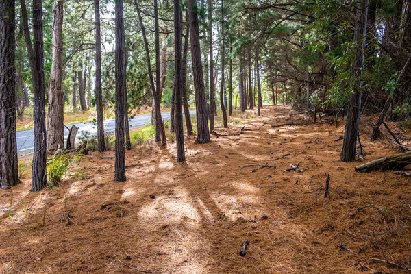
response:
{"label": "dark right-leaning trunk rising beside the left end of the fallen log", "polygon": [[362,0],[356,13],[354,60],[351,64],[352,88],[354,91],[353,94],[349,96],[347,122],[345,124],[343,150],[341,150],[340,162],[352,162],[356,158],[356,145],[360,129],[362,69],[364,66],[368,7],[369,0]]}

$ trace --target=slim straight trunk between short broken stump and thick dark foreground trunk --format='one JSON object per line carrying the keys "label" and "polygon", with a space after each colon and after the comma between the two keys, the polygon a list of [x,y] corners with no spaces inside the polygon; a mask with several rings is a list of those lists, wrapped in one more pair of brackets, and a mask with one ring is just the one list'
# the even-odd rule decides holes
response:
{"label": "slim straight trunk between short broken stump and thick dark foreground trunk", "polygon": [[104,140],[104,118],[103,118],[103,90],[101,88],[101,29],[100,29],[100,3],[99,0],[94,0],[95,16],[96,16],[96,72],[95,72],[95,96],[97,110],[97,142],[99,144],[99,152],[105,151]]}

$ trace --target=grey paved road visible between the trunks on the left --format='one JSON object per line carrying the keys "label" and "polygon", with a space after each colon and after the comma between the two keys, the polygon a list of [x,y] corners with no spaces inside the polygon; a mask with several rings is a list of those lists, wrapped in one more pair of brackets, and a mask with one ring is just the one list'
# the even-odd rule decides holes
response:
{"label": "grey paved road visible between the trunks on the left", "polygon": [[[191,111],[190,114],[195,114]],[[162,119],[167,121],[170,119],[170,112],[162,112]],[[136,115],[134,118],[129,119],[130,129],[138,129],[144,127],[147,123],[151,121],[151,114]],[[85,122],[85,123],[75,123],[66,125],[71,128],[71,125],[76,125],[79,127],[79,136],[95,136],[97,135],[97,123]],[[115,119],[104,120],[104,132],[112,133],[115,129]],[[66,143],[67,136],[69,136],[69,130],[64,127],[64,144]],[[34,149],[34,131],[33,129],[21,130],[17,132],[17,152],[18,153],[29,153]]]}

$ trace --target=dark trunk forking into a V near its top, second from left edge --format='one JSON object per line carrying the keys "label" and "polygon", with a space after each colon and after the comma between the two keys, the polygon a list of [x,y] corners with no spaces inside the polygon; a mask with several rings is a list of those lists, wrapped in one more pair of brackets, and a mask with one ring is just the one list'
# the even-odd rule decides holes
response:
{"label": "dark trunk forking into a V near its top, second from left edge", "polygon": [[42,29],[42,1],[33,0],[33,39],[30,38],[29,23],[25,0],[20,0],[21,16],[23,18],[23,29],[29,55],[30,69],[33,79],[33,101],[34,101],[34,151],[32,164],[32,189],[40,191],[47,181],[46,160],[46,121],[45,121],[45,65],[44,44]]}

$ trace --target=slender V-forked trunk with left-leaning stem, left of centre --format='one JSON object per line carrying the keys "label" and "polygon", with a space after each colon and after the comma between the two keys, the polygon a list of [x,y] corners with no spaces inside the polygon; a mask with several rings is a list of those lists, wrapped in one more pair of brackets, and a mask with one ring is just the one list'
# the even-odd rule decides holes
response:
{"label": "slender V-forked trunk with left-leaning stem, left of centre", "polygon": [[[145,51],[147,55],[147,70],[149,73],[149,79],[150,79],[150,86],[151,86],[151,92],[153,93],[154,101],[155,101],[155,142],[160,142],[162,141],[162,145],[166,145],[166,132],[164,130],[164,125],[162,123],[162,117],[161,117],[161,110],[160,110],[160,102],[161,102],[161,97],[158,95],[159,90],[156,90],[154,86],[154,79],[153,79],[153,73],[151,71],[151,59],[150,59],[150,51],[149,51],[149,43],[147,42],[147,36],[145,34],[145,27],[144,24],[142,23],[142,17],[140,13],[140,8],[138,7],[138,2],[137,0],[134,0],[134,5],[136,6],[137,14],[138,14],[138,21],[140,21],[140,27],[141,27],[141,33],[142,33],[142,38],[144,40],[144,45],[145,45]],[[158,10],[157,10],[157,1],[154,2],[154,12],[155,17],[157,17],[157,34],[158,36]],[[156,42],[156,45],[158,42]],[[156,64],[157,67],[157,64]],[[160,71],[159,71],[160,72]],[[158,83],[160,85],[160,83]]]}

